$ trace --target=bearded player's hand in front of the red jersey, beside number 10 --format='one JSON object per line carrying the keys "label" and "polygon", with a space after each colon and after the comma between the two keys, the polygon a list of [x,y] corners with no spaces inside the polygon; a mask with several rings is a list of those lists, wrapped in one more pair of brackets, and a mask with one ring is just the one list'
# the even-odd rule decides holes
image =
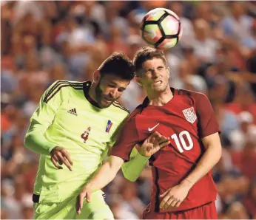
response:
{"label": "bearded player's hand in front of the red jersey, beside number 10", "polygon": [[151,134],[138,149],[138,152],[144,157],[151,157],[153,154],[158,152],[161,148],[169,145],[169,137],[164,137],[155,131]]}

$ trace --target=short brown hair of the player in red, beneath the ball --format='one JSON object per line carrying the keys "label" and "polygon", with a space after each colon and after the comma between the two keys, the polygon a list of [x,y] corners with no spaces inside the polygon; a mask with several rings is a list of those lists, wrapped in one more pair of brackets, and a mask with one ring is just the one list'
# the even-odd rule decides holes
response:
{"label": "short brown hair of the player in red, beneath the ball", "polygon": [[145,61],[152,60],[152,58],[160,58],[164,61],[164,65],[167,66],[166,58],[164,57],[164,52],[160,49],[155,49],[152,47],[141,47],[133,58],[133,64],[135,66],[135,72],[138,72],[142,68]]}

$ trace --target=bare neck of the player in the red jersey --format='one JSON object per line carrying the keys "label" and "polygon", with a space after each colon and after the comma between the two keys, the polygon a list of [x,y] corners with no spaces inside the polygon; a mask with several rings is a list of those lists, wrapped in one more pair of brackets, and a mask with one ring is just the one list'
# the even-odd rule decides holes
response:
{"label": "bare neck of the player in the red jersey", "polygon": [[152,92],[148,93],[147,97],[149,98],[149,105],[152,106],[164,106],[169,100],[172,99],[173,94],[169,86],[164,92]]}

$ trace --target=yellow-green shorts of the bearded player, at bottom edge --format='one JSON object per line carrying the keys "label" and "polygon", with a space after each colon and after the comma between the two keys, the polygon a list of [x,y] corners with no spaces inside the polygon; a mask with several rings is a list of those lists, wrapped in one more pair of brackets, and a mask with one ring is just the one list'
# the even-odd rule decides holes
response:
{"label": "yellow-green shorts of the bearded player, at bottom edge", "polygon": [[34,203],[34,219],[114,219],[103,194],[98,190],[92,193],[91,202],[84,200],[80,215],[75,210],[76,196],[59,203]]}

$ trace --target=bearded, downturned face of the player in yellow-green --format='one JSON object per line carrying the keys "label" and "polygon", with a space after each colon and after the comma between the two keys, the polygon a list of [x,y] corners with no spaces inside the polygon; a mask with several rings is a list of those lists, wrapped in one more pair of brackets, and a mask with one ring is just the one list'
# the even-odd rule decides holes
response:
{"label": "bearded, downturned face of the player in yellow-green", "polygon": [[109,107],[115,100],[118,100],[128,85],[129,80],[124,80],[112,74],[99,78],[95,87],[95,96],[98,105],[101,108]]}

